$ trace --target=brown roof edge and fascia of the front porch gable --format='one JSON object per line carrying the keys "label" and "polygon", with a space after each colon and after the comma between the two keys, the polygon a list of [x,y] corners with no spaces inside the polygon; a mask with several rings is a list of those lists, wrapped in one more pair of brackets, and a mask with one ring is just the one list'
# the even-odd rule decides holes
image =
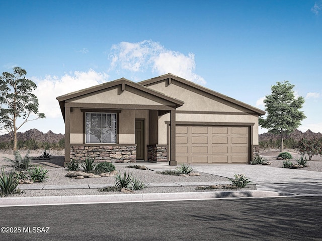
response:
{"label": "brown roof edge and fascia of the front porch gable", "polygon": [[95,86],[90,87],[90,88],[81,89],[81,90],[78,90],[78,91],[74,91],[74,92],[71,92],[71,93],[68,93],[68,94],[58,96],[56,99],[59,101],[59,106],[60,106],[60,109],[61,109],[63,117],[65,116],[64,115],[64,112],[65,112],[64,103],[65,103],[66,100],[69,100],[69,99],[72,99],[72,98],[75,98],[75,97],[79,97],[79,96],[82,96],[82,95],[86,95],[86,94],[91,94],[91,93],[94,93],[96,91],[104,90],[104,89],[111,88],[111,87],[114,87],[114,86],[117,86],[117,85],[123,85],[122,89],[124,89],[125,85],[128,85],[128,86],[130,86],[132,88],[138,89],[138,90],[143,91],[145,93],[148,93],[150,95],[153,95],[153,96],[156,96],[158,98],[167,100],[167,101],[169,101],[171,103],[174,103],[176,108],[179,107],[179,106],[182,106],[184,104],[184,101],[182,101],[182,100],[173,98],[173,97],[168,96],[168,95],[166,95],[164,93],[155,91],[155,90],[150,89],[148,87],[145,87],[145,86],[143,86],[141,84],[132,82],[132,81],[130,81],[128,79],[120,78],[120,79],[117,79],[117,80],[114,80],[114,81],[110,81],[110,82],[106,82],[106,83],[103,83],[103,84],[95,85]]}

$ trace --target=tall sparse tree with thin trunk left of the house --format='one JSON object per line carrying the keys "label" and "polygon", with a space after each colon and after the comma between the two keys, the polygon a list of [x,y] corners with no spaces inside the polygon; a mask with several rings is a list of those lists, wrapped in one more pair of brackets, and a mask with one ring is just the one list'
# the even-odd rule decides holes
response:
{"label": "tall sparse tree with thin trunk left of the house", "polygon": [[[37,86],[26,79],[26,70],[20,67],[13,70],[13,74],[4,72],[0,76],[0,130],[10,134],[17,151],[17,131],[26,122],[45,118],[45,114],[38,113],[38,99],[32,93]],[[36,117],[30,119],[32,113]]]}

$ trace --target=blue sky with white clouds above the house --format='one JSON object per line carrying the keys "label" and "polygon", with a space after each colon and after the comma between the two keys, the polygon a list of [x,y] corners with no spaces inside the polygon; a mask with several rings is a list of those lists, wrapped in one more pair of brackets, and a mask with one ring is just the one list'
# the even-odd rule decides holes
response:
{"label": "blue sky with white clouds above the house", "polygon": [[22,132],[64,133],[59,95],[171,72],[261,109],[288,80],[322,133],[322,0],[1,1],[0,30],[0,72],[24,68],[47,116]]}

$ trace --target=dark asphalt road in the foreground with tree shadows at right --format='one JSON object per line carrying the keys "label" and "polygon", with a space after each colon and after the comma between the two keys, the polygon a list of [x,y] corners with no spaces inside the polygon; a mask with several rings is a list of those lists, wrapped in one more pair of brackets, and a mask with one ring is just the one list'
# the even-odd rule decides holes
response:
{"label": "dark asphalt road in the foreground with tree shadows at right", "polygon": [[0,233],[0,240],[322,240],[321,196],[2,207],[0,213],[0,227],[17,231]]}

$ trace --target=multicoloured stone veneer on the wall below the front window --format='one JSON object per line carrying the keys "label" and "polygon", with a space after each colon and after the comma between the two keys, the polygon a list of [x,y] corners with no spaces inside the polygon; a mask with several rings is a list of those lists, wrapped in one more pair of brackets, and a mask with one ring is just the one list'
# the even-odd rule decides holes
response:
{"label": "multicoloured stone veneer on the wall below the front window", "polygon": [[70,160],[95,157],[99,162],[136,162],[136,146],[70,146]]}

